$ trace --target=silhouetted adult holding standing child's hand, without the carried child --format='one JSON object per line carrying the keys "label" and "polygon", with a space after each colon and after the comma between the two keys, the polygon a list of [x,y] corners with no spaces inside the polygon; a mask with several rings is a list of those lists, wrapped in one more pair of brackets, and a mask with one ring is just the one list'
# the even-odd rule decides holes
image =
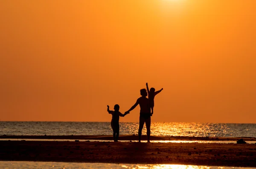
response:
{"label": "silhouetted adult holding standing child's hand, without the carried child", "polygon": [[148,96],[146,89],[140,90],[141,97],[137,99],[136,103],[125,113],[129,113],[131,110],[134,110],[137,105],[140,105],[140,127],[139,127],[139,142],[141,140],[142,135],[142,129],[144,126],[144,123],[146,124],[147,128],[147,138],[148,142],[150,142],[150,125],[151,125],[151,113],[150,113],[150,106],[149,106],[149,100],[146,98]]}

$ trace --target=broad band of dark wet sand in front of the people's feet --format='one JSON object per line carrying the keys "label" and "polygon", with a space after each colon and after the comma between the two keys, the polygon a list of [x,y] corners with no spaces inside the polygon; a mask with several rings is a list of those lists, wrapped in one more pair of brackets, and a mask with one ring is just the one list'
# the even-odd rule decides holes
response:
{"label": "broad band of dark wet sand in front of the people's feet", "polygon": [[0,160],[256,167],[256,144],[0,141]]}

